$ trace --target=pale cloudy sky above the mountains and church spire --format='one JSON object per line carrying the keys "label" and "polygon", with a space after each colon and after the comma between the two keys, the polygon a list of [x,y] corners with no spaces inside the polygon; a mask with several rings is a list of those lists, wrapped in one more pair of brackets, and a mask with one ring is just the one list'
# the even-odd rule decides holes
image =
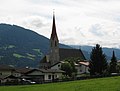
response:
{"label": "pale cloudy sky above the mountains and church spire", "polygon": [[120,0],[0,0],[0,23],[50,38],[53,9],[60,43],[120,48]]}

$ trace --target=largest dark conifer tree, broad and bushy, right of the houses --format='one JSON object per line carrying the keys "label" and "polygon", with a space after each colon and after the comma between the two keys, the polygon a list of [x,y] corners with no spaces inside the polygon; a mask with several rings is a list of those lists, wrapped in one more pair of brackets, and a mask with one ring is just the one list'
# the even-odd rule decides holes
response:
{"label": "largest dark conifer tree, broad and bushy, right of the houses", "polygon": [[102,75],[107,69],[107,60],[99,44],[92,49],[90,59],[90,75]]}

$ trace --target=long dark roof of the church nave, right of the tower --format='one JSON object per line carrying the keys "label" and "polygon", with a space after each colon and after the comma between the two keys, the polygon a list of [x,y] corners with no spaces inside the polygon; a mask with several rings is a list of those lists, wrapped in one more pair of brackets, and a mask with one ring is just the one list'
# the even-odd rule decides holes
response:
{"label": "long dark roof of the church nave, right of the tower", "polygon": [[85,60],[85,56],[80,49],[59,49],[60,61],[63,61],[66,58],[70,57],[80,57],[81,59]]}

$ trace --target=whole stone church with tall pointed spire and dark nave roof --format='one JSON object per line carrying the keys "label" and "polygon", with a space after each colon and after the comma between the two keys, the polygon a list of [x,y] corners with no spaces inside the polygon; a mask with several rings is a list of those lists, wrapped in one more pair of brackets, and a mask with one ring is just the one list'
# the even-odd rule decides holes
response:
{"label": "whole stone church with tall pointed spire and dark nave roof", "polygon": [[[50,37],[50,51],[40,61],[40,69],[58,69],[54,68],[56,65],[60,67],[61,62],[67,58],[80,58],[79,61],[86,60],[81,49],[66,49],[59,48],[59,39],[56,31],[55,14],[53,13],[52,33]],[[53,68],[52,68],[53,67]]]}

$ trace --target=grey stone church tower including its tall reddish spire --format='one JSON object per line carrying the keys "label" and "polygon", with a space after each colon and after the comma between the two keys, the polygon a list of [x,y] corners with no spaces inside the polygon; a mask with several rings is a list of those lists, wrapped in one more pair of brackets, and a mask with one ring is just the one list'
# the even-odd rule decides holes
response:
{"label": "grey stone church tower including its tall reddish spire", "polygon": [[59,40],[56,32],[55,14],[53,12],[52,33],[50,37],[50,64],[59,62]]}

